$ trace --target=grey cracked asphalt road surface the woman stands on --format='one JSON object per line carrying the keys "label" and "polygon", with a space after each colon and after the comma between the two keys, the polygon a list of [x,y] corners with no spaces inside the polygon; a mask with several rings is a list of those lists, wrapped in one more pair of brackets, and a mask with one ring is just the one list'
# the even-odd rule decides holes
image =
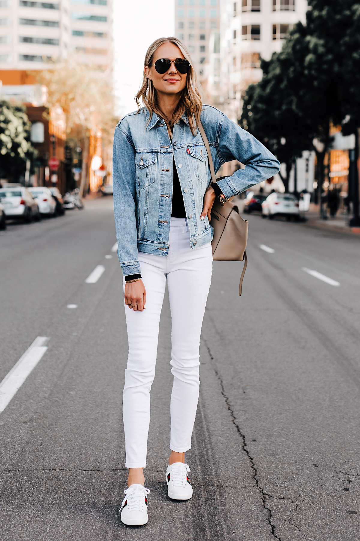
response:
{"label": "grey cracked asphalt road surface the woman stands on", "polygon": [[[127,337],[112,200],[85,205],[0,234],[0,380],[36,337],[49,339],[0,413],[0,538],[359,540],[360,238],[252,215],[240,299],[241,263],[214,263],[188,502],[169,500],[165,484],[165,300],[145,470],[149,522],[128,527],[118,513]],[[97,265],[105,271],[85,283]]]}

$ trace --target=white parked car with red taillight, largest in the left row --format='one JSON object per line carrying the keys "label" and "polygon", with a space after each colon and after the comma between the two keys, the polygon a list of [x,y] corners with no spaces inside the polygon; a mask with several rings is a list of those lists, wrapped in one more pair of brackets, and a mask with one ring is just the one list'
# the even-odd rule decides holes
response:
{"label": "white parked car with red taillight, largest in the left row", "polygon": [[23,219],[25,222],[40,220],[39,207],[28,188],[14,186],[0,189],[0,203],[6,218]]}

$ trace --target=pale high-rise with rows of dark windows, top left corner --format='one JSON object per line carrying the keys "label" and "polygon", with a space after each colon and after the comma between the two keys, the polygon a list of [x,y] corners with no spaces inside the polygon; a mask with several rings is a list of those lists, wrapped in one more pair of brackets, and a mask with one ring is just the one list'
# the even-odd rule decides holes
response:
{"label": "pale high-rise with rows of dark windows, top left corner", "polygon": [[74,53],[112,63],[112,0],[0,0],[0,70],[40,70]]}

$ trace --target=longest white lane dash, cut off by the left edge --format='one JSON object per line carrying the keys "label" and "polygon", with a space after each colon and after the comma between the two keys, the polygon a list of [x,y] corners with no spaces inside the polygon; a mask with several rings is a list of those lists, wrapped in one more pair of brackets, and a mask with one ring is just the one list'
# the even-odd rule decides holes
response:
{"label": "longest white lane dash, cut off by the left edge", "polygon": [[50,338],[47,337],[37,337],[31,346],[26,349],[16,365],[5,375],[5,378],[0,383],[0,413],[5,410],[12,397],[17,393],[30,372],[43,357],[47,349],[44,344],[49,340]]}

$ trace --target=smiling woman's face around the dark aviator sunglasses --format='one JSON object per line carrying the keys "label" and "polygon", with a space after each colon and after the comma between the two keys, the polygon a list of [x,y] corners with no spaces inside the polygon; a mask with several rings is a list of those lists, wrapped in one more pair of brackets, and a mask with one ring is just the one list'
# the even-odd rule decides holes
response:
{"label": "smiling woman's face around the dark aviator sunglasses", "polygon": [[151,79],[151,82],[158,93],[179,94],[186,86],[187,74],[181,74],[177,71],[174,62],[171,63],[171,66],[166,73],[158,73],[157,70],[155,70],[154,64],[159,58],[171,58],[171,60],[175,60],[175,58],[185,58],[185,56],[180,51],[179,47],[176,47],[173,43],[163,43],[154,53],[152,67],[146,67],[144,69],[147,78]]}

